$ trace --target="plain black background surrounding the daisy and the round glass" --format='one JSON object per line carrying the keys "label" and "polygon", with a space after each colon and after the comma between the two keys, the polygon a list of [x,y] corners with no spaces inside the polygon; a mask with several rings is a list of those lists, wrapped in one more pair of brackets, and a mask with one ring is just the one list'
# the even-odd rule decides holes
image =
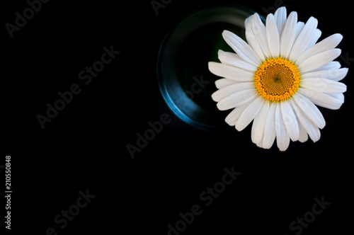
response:
{"label": "plain black background surrounding the daisy and the round glass", "polygon": [[[58,234],[167,234],[167,225],[197,204],[202,214],[181,234],[295,234],[289,224],[322,196],[331,205],[302,234],[350,231],[352,71],[343,79],[348,91],[341,109],[320,108],[326,127],[319,142],[291,142],[285,152],[276,145],[256,147],[251,127],[237,132],[225,123],[222,132],[197,130],[164,103],[156,78],[164,36],[188,13],[220,3],[173,0],[156,16],[149,0],[52,0],[13,38],[3,27],[0,164],[11,155],[12,234],[44,235],[49,227]],[[285,5],[299,21],[314,16],[321,39],[341,33],[342,55],[354,58],[348,2],[234,3],[263,15]],[[27,7],[25,1],[2,3],[2,25],[14,23],[15,12]],[[85,86],[79,71],[111,45],[120,55]],[[343,67],[354,63],[337,60]],[[80,84],[81,93],[42,130],[36,115],[72,84]],[[136,134],[164,113],[171,123],[132,159],[127,144],[136,145]],[[200,193],[232,166],[241,176],[206,207]],[[79,190],[96,197],[60,229],[53,218],[76,203]]]}

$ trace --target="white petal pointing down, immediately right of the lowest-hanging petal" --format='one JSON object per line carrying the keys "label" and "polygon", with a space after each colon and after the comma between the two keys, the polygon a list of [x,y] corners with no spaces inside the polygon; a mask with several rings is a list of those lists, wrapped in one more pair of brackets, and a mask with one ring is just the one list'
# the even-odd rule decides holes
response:
{"label": "white petal pointing down, immediately right of the lowest-hanging petal", "polygon": [[299,124],[294,110],[292,110],[288,101],[280,103],[280,110],[287,134],[289,134],[289,137],[293,142],[297,141],[297,139],[299,139]]}

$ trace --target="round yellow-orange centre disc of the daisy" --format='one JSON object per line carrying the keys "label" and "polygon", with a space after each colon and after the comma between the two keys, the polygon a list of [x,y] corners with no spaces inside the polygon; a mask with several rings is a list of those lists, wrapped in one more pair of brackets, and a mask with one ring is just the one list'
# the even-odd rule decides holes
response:
{"label": "round yellow-orange centre disc of the daisy", "polygon": [[254,82],[258,94],[265,100],[285,101],[292,98],[299,88],[299,69],[282,57],[265,59],[256,71]]}

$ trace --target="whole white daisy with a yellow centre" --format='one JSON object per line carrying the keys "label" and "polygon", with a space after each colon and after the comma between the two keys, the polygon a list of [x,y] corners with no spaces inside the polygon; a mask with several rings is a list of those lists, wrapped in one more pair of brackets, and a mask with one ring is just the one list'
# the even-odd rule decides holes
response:
{"label": "whole white daisy with a yellow centre", "polygon": [[275,138],[280,151],[290,139],[319,140],[326,122],[316,107],[336,110],[344,102],[346,85],[340,83],[347,68],[333,62],[342,35],[317,42],[321,31],[316,18],[297,22],[297,13],[287,17],[285,7],[269,14],[265,25],[255,13],[245,21],[246,40],[224,30],[222,36],[236,52],[219,50],[222,63],[210,62],[210,71],[222,76],[212,94],[219,110],[233,109],[226,122],[244,130],[253,120],[251,139],[269,149]]}

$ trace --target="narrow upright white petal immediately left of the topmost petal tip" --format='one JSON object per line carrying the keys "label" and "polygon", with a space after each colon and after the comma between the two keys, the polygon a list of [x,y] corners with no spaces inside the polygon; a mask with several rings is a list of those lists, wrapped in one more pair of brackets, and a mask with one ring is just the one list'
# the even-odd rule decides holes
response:
{"label": "narrow upright white petal immediately left of the topmost petal tip", "polygon": [[270,55],[272,55],[272,57],[277,58],[280,55],[280,38],[273,14],[269,14],[267,16],[267,23],[265,25],[265,29],[267,33]]}

